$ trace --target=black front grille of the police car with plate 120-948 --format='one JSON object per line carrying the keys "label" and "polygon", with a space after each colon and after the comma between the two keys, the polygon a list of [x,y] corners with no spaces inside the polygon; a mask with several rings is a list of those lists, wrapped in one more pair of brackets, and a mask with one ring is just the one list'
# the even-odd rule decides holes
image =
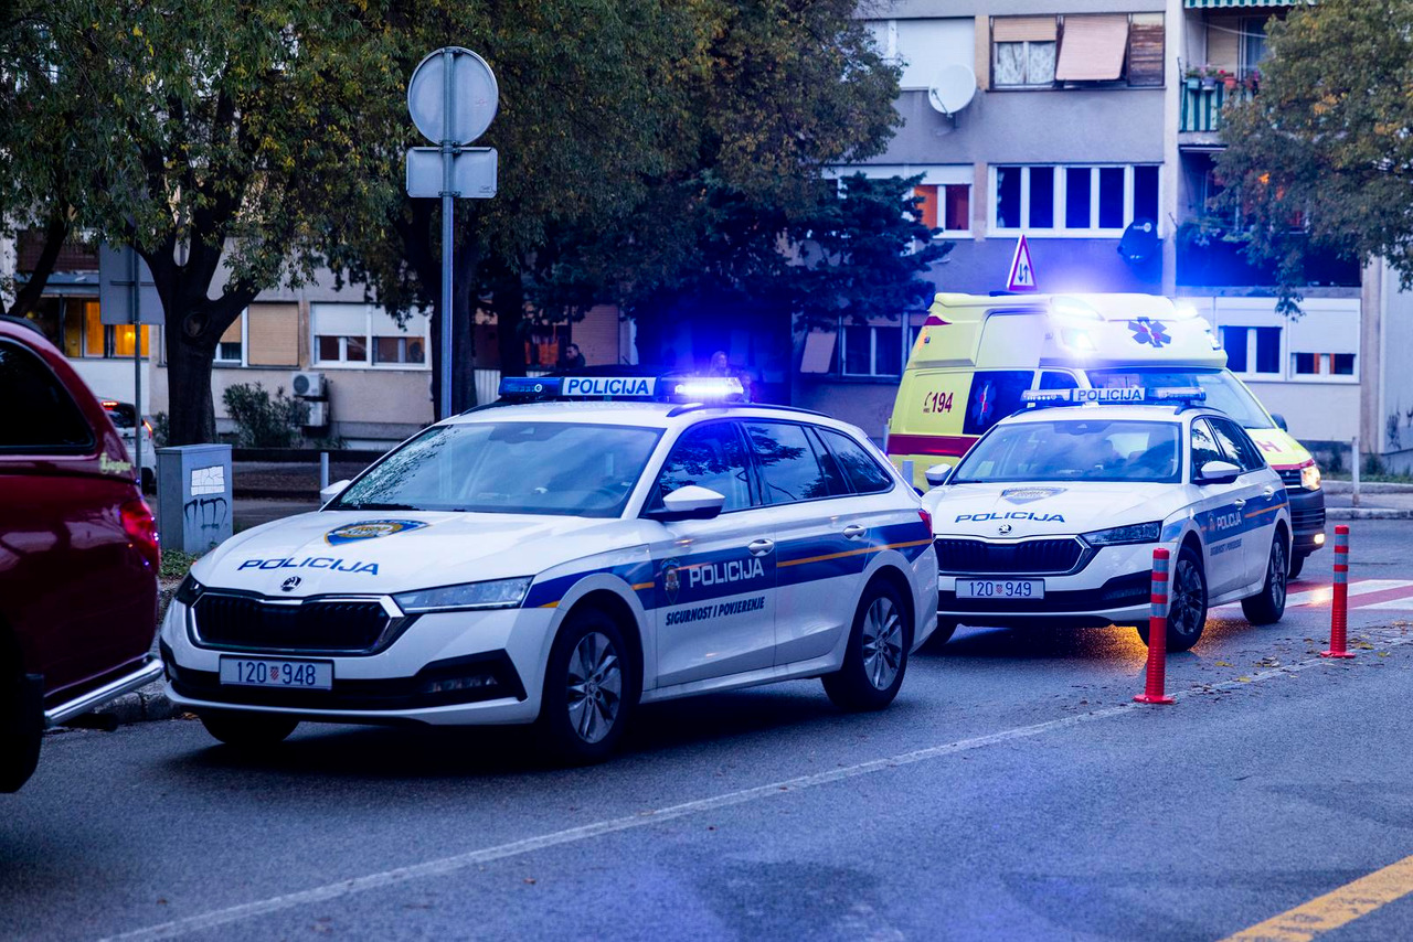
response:
{"label": "black front grille of the police car with plate 120-948", "polygon": [[391,619],[376,600],[278,604],[208,592],[196,600],[196,637],[209,647],[256,651],[367,651]]}

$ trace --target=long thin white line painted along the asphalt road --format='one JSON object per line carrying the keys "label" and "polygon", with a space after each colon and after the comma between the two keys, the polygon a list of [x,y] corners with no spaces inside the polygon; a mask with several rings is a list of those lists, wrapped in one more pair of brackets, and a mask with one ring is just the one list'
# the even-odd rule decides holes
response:
{"label": "long thin white line painted along the asphalt road", "polygon": [[[1366,633],[1366,636],[1368,634],[1379,637],[1379,633],[1376,631]],[[1402,636],[1402,633],[1399,633],[1397,637],[1379,637],[1379,640],[1383,641],[1388,647],[1413,644],[1413,636],[1405,637]],[[1198,696],[1204,693],[1221,693],[1225,691],[1236,691],[1245,686],[1251,686],[1252,684],[1269,681],[1270,678],[1276,676],[1287,676],[1296,671],[1304,671],[1313,667],[1318,667],[1321,664],[1330,664],[1330,661],[1316,657],[1307,661],[1297,661],[1286,667],[1262,671],[1260,674],[1252,674],[1246,681],[1224,681],[1221,684],[1202,685],[1200,688],[1177,691],[1171,696],[1173,699],[1181,700],[1187,699],[1188,696]],[[287,893],[266,900],[256,900],[253,902],[243,902],[240,905],[227,907],[225,910],[212,910],[211,912],[202,912],[182,919],[172,919],[171,922],[162,922],[160,925],[153,925],[143,929],[134,929],[131,932],[123,932],[120,935],[107,936],[106,939],[103,939],[103,942],[147,942],[148,939],[175,939],[184,935],[189,935],[192,932],[203,932],[208,929],[215,929],[223,925],[230,925],[232,922],[253,919],[256,917],[268,915],[271,912],[278,912],[281,910],[309,905],[314,902],[326,902],[329,900],[336,900],[339,897],[349,897],[357,893],[367,893],[369,890],[380,890],[383,887],[390,887],[400,883],[408,883],[411,880],[441,877],[451,873],[456,873],[458,870],[465,870],[466,867],[490,863],[493,860],[519,857],[527,853],[534,853],[536,850],[544,850],[547,847],[558,847],[562,845],[577,843],[579,840],[588,840],[589,837],[599,837],[603,835],[612,835],[622,830],[649,828],[651,825],[663,823],[667,821],[687,818],[688,815],[699,815],[705,811],[715,811],[718,808],[731,808],[733,805],[743,805],[752,801],[760,801],[763,798],[776,798],[780,795],[788,795],[790,792],[794,791],[803,791],[805,788],[817,788],[820,785],[828,785],[831,782],[858,778],[859,775],[870,775],[873,773],[887,771],[890,768],[897,768],[900,765],[911,765],[914,763],[941,758],[944,756],[969,753],[972,750],[985,749],[988,746],[996,746],[1000,743],[1009,743],[1019,739],[1031,739],[1058,729],[1065,729],[1068,726],[1078,726],[1081,723],[1108,719],[1111,716],[1119,716],[1123,713],[1129,713],[1132,710],[1142,710],[1142,709],[1161,709],[1161,708],[1149,708],[1142,703],[1121,703],[1118,706],[1109,706],[1102,710],[1094,710],[1092,713],[1063,716],[1060,719],[1047,720],[1044,723],[1036,723],[1033,726],[1017,726],[1013,729],[1002,730],[999,733],[991,733],[988,736],[976,736],[974,739],[964,739],[955,743],[945,743],[942,746],[931,746],[928,749],[920,749],[910,753],[899,753],[897,756],[889,756],[887,758],[875,758],[872,761],[859,763],[856,765],[846,765],[844,768],[834,768],[824,773],[815,773],[814,775],[786,778],[781,781],[770,782],[769,785],[743,788],[740,791],[732,791],[732,792],[725,792],[722,795],[715,795],[712,798],[701,798],[698,801],[688,801],[680,805],[668,805],[667,808],[658,808],[656,811],[640,811],[636,815],[626,815],[623,818],[609,818],[606,821],[599,821],[591,825],[569,828],[565,830],[555,830],[552,833],[538,835],[534,837],[524,837],[523,840],[513,840],[510,843],[497,845],[495,847],[471,850],[468,853],[461,853],[451,857],[441,857],[439,860],[428,860],[425,863],[411,864],[407,867],[394,867],[393,870],[372,873],[363,877],[353,877],[350,880],[341,880],[338,883],[329,883],[322,887],[301,890],[298,893]]]}

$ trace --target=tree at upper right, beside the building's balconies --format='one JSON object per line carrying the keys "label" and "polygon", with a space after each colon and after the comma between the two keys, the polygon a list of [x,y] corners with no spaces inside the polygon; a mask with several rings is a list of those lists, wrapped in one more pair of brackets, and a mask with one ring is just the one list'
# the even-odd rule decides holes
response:
{"label": "tree at upper right, beside the building's balconies", "polygon": [[1267,27],[1260,93],[1226,109],[1221,206],[1294,311],[1318,253],[1413,287],[1413,0],[1321,0]]}

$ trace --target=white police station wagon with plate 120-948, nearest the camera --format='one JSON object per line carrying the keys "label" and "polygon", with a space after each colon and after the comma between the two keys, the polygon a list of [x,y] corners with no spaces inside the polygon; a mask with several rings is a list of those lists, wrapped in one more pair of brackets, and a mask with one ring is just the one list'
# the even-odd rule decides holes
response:
{"label": "white police station wagon with plate 120-948, nearest the camera", "polygon": [[[639,400],[562,401],[609,384]],[[581,761],[640,702],[822,676],[845,709],[886,706],[937,619],[917,494],[851,425],[663,386],[712,391],[507,380],[557,401],[439,422],[322,510],[227,539],[162,624],[171,699],[233,744],[538,722]]]}

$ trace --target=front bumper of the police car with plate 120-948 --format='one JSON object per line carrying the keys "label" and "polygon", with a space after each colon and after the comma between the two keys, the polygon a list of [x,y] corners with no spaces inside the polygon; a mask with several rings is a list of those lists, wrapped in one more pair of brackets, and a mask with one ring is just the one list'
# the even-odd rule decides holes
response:
{"label": "front bumper of the police car with plate 120-948", "polygon": [[[287,713],[332,723],[493,725],[538,716],[552,609],[424,614],[374,654],[230,650],[196,643],[187,606],[161,630],[167,691],[184,709]],[[220,682],[222,657],[322,661],[332,688]]]}

